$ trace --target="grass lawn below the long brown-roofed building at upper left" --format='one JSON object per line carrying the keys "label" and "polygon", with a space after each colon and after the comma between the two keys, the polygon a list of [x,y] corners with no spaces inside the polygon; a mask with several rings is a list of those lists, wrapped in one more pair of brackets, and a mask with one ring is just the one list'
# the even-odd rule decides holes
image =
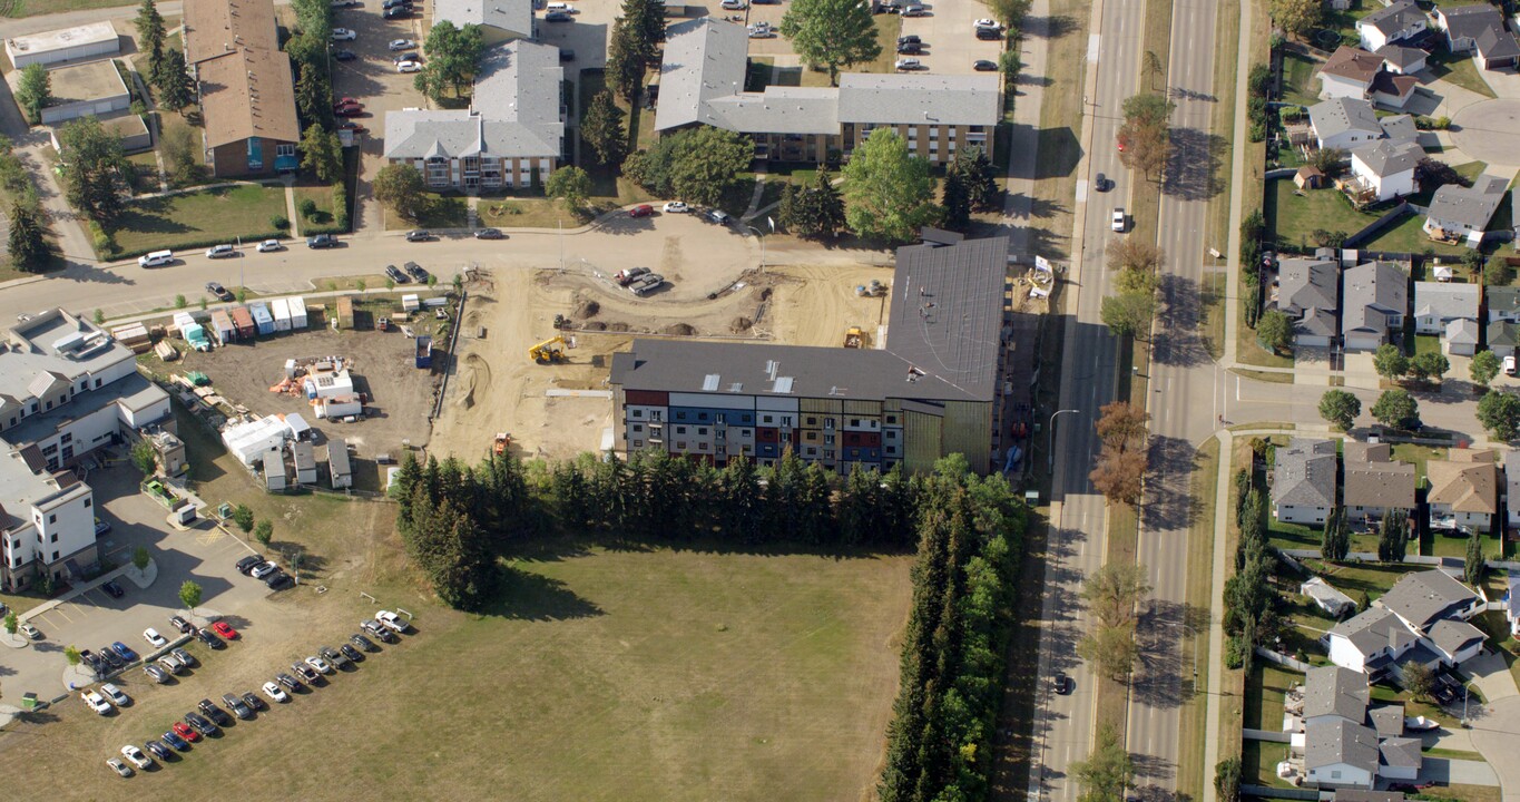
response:
{"label": "grass lawn below the long brown-roofed building at upper left", "polygon": [[278,236],[269,222],[286,215],[284,187],[243,184],[131,201],[112,228],[125,259],[161,248],[198,248],[242,237]]}

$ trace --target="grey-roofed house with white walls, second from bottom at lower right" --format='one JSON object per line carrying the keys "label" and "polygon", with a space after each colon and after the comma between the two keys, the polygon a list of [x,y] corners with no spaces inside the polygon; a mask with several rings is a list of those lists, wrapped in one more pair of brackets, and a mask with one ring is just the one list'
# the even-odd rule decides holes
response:
{"label": "grey-roofed house with white walls, second from bottom at lower right", "polygon": [[1485,607],[1484,597],[1444,571],[1404,574],[1365,612],[1342,621],[1322,641],[1330,662],[1401,682],[1403,667],[1430,670],[1461,665],[1482,651],[1485,635],[1467,622]]}

